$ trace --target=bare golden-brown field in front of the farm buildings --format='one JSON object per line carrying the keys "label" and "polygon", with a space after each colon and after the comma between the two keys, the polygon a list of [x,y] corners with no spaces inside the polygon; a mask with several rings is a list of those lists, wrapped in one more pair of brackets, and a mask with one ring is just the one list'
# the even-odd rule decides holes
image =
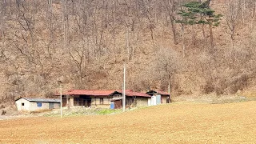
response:
{"label": "bare golden-brown field in front of the farm buildings", "polygon": [[0,143],[254,143],[256,102],[174,103],[122,114],[0,121]]}

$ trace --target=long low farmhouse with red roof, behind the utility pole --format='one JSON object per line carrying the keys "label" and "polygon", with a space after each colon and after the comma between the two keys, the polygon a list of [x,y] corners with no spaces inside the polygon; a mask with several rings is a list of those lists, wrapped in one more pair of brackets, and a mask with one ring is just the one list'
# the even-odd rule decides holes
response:
{"label": "long low farmhouse with red roof, behind the utility pole", "polygon": [[[126,106],[149,106],[150,98],[149,94],[126,90]],[[62,94],[62,106],[110,107],[114,102],[121,108],[117,99],[122,101],[122,90],[68,90]]]}

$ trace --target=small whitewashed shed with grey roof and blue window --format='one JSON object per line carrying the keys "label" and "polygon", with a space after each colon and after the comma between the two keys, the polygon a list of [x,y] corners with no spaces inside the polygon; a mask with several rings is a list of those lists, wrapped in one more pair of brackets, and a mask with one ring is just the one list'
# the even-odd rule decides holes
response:
{"label": "small whitewashed shed with grey roof and blue window", "polygon": [[15,104],[19,111],[39,111],[58,109],[60,102],[55,98],[18,98]]}

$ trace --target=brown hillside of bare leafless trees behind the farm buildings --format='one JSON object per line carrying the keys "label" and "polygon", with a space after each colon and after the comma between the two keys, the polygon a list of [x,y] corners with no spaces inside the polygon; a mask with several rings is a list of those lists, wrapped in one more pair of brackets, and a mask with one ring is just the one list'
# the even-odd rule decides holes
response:
{"label": "brown hillside of bare leafless trees behind the farm buildings", "polygon": [[256,2],[211,0],[207,14],[222,16],[201,14],[203,22],[188,2],[1,1],[0,98],[49,97],[58,81],[64,90],[121,89],[124,63],[127,89],[254,90]]}

